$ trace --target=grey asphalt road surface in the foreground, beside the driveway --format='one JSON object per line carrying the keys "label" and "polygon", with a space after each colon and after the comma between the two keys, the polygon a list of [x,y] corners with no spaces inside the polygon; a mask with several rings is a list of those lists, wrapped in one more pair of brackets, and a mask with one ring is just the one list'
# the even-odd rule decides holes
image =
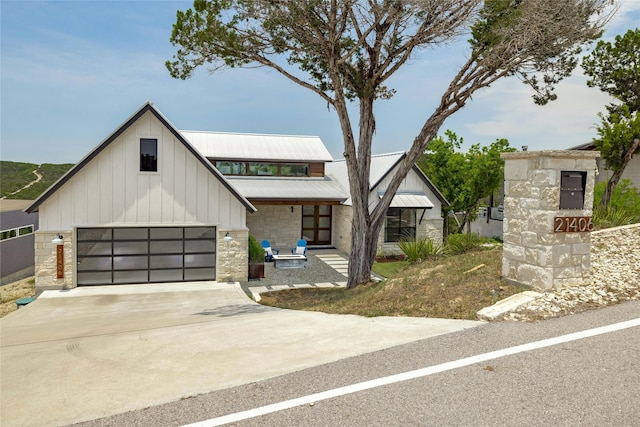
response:
{"label": "grey asphalt road surface in the foreground, beside the driveway", "polygon": [[[241,426],[640,426],[640,327],[456,361],[640,318],[640,301],[536,323],[496,322],[82,426],[178,426],[452,362],[432,375],[346,393]],[[340,394],[340,393],[338,393]],[[313,400],[313,398],[311,398]],[[214,421],[205,421],[211,420]]]}

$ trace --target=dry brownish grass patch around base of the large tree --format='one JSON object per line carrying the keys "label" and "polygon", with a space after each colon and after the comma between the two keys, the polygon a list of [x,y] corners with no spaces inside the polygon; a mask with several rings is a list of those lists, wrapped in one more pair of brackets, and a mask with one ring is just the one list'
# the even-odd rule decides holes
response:
{"label": "dry brownish grass patch around base of the large tree", "polygon": [[[390,264],[390,263],[384,263]],[[483,267],[469,271],[484,264]],[[391,266],[388,266],[391,268]],[[361,316],[476,319],[476,312],[526,290],[501,278],[502,248],[476,249],[413,265],[355,289],[294,289],[261,295],[261,304]]]}

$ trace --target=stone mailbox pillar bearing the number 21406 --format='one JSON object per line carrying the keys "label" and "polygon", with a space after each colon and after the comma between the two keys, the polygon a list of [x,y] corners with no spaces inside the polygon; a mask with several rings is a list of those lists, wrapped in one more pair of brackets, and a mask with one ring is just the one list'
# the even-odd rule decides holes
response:
{"label": "stone mailbox pillar bearing the number 21406", "polygon": [[538,290],[589,283],[597,151],[503,153],[502,275]]}

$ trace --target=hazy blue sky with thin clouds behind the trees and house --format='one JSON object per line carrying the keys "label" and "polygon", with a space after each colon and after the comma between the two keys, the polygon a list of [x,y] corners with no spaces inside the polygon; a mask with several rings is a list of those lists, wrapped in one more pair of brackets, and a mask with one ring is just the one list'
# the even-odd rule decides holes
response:
{"label": "hazy blue sky with thin clouds behind the trees and house", "polygon": [[[318,135],[340,158],[335,112],[274,71],[169,76],[164,62],[176,49],[169,42],[175,13],[191,4],[0,0],[0,157],[75,163],[151,100],[178,129]],[[622,1],[604,38],[638,22],[640,0]],[[375,153],[410,146],[466,52],[464,40],[425,50],[389,81],[397,94],[377,103]],[[477,92],[440,133],[451,129],[467,144],[507,138],[530,150],[589,142],[610,99],[585,81],[578,68],[558,87],[559,100],[544,107],[518,80],[500,81]]]}

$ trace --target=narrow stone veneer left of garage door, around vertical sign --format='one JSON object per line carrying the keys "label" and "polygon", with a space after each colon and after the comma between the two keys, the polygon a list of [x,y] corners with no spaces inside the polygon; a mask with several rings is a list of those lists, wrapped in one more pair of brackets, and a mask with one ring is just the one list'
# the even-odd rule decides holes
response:
{"label": "narrow stone veneer left of garage door, around vertical sign", "polygon": [[[57,278],[56,246],[51,241],[61,234],[64,240],[64,278]],[[71,231],[35,232],[35,279],[36,288],[69,289],[73,288],[73,234]]]}

